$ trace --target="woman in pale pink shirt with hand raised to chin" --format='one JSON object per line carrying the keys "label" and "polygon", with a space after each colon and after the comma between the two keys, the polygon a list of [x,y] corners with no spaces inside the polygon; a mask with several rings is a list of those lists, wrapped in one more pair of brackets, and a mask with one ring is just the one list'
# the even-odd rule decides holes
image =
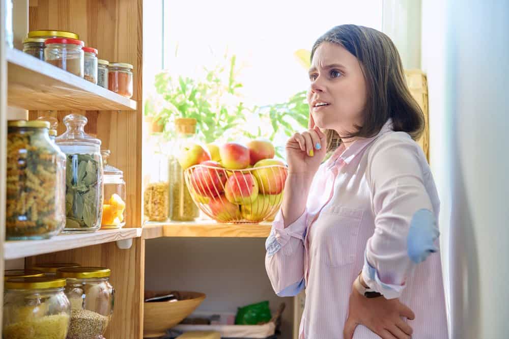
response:
{"label": "woman in pale pink shirt with hand raised to chin", "polygon": [[342,25],[311,59],[309,130],[288,140],[266,241],[272,287],[306,289],[300,338],[446,339],[440,255],[431,255],[439,200],[413,140],[424,119],[398,51],[383,33]]}

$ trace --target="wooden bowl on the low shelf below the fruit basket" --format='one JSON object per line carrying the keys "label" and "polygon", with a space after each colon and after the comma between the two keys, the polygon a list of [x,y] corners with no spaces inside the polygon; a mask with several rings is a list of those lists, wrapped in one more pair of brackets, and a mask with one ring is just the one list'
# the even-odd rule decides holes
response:
{"label": "wooden bowl on the low shelf below the fruit basket", "polygon": [[166,330],[176,326],[185,317],[194,312],[203,300],[206,298],[204,293],[198,292],[157,292],[146,293],[149,295],[159,296],[173,293],[179,301],[169,302],[145,302],[145,314],[143,319],[143,337],[157,338],[166,334]]}

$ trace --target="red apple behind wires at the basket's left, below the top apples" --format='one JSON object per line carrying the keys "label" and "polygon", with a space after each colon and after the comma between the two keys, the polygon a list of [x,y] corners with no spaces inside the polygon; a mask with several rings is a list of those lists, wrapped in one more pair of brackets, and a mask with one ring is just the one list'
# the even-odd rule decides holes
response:
{"label": "red apple behind wires at the basket's left, below the top apples", "polygon": [[191,184],[197,194],[203,196],[217,196],[224,192],[224,183],[227,180],[226,171],[216,161],[204,161],[201,165],[206,165],[209,168],[197,166],[192,168],[194,171],[191,174]]}

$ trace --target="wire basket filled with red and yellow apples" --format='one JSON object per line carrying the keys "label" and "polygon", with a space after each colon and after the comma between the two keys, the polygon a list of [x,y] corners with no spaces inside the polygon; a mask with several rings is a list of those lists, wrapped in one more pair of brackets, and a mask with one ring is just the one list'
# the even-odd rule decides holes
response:
{"label": "wire basket filled with red and yellow apples", "polygon": [[284,165],[230,170],[219,163],[194,165],[184,172],[194,203],[206,215],[217,222],[249,224],[279,210],[287,175]]}

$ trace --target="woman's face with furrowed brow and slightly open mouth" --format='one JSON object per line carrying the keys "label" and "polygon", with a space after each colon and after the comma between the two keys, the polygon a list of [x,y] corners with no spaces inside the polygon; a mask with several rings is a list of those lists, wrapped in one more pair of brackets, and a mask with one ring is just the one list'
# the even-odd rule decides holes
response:
{"label": "woman's face with furrowed brow and slightly open mouth", "polygon": [[362,126],[366,84],[361,65],[345,47],[324,42],[313,55],[309,69],[309,108],[320,129],[333,129],[340,136]]}

